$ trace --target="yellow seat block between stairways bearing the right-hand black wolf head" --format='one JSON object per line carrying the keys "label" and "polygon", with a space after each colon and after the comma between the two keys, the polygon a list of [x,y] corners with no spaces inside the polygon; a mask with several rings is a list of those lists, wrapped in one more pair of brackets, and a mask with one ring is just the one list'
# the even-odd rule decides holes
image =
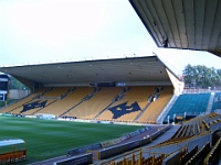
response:
{"label": "yellow seat block between stairways bearing the right-hand black wolf head", "polygon": [[155,88],[151,86],[129,87],[123,90],[97,120],[134,121],[148,105],[148,97]]}

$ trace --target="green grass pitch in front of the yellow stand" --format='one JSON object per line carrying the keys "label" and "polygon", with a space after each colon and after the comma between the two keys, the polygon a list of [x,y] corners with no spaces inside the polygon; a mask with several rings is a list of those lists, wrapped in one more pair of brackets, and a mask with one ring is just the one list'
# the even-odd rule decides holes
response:
{"label": "green grass pitch in front of the yellow stand", "polygon": [[1,140],[27,142],[25,163],[64,155],[70,148],[116,139],[141,128],[13,117],[0,117],[0,125]]}

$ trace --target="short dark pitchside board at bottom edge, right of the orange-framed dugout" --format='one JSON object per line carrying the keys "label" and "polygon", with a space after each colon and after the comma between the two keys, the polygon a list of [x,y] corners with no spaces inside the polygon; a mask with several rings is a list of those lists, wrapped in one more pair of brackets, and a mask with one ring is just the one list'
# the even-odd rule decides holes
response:
{"label": "short dark pitchside board at bottom edge, right of the orange-framed dugout", "polygon": [[88,165],[92,164],[92,162],[93,162],[92,153],[88,153],[55,162],[53,165]]}

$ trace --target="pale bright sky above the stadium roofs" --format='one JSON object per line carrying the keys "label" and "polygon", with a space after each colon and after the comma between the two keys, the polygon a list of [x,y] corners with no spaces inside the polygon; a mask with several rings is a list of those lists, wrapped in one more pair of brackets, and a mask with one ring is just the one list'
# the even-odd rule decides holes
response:
{"label": "pale bright sky above the stadium roofs", "polygon": [[0,66],[150,56],[175,73],[221,68],[207,52],[158,48],[128,0],[0,0]]}

